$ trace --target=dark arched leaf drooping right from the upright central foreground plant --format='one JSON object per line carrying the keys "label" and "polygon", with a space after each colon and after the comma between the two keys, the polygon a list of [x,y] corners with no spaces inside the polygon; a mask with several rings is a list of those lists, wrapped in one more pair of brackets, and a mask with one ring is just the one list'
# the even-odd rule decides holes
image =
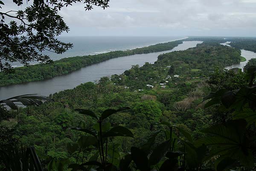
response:
{"label": "dark arched leaf drooping right from the upright central foreground plant", "polygon": [[105,134],[103,134],[102,137],[134,137],[134,135],[129,129],[123,126],[116,126],[111,128],[111,130],[109,130]]}

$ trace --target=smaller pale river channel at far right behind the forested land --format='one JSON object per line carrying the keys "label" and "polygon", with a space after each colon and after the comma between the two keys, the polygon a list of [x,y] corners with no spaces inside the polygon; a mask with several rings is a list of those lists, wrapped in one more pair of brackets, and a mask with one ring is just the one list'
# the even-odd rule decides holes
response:
{"label": "smaller pale river channel at far right behind the forested land", "polygon": [[[226,42],[226,43],[221,43],[221,45],[224,46],[230,46],[229,45],[230,42]],[[241,56],[244,57],[246,59],[246,61],[244,62],[240,62],[239,64],[234,64],[232,66],[227,66],[225,67],[226,69],[231,69],[231,68],[241,68],[242,71],[244,71],[244,66],[247,64],[248,60],[252,59],[252,58],[256,58],[256,53],[254,53],[253,51],[246,51],[241,49]]]}

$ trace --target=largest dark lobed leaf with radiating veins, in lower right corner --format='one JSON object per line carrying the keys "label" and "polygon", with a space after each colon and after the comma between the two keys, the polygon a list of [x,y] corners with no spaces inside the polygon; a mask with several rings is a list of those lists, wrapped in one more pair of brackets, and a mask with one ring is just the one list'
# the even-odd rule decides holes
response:
{"label": "largest dark lobed leaf with radiating veins, in lower right corner", "polygon": [[226,156],[239,160],[242,165],[251,168],[253,156],[250,141],[244,136],[247,122],[245,120],[231,120],[224,124],[214,125],[202,132],[212,136],[195,141],[195,146],[207,145],[211,147],[208,158]]}

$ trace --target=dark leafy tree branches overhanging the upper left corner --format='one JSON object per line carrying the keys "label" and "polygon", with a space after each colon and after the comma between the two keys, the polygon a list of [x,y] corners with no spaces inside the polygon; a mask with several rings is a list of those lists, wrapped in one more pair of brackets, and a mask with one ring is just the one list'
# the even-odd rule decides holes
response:
{"label": "dark leafy tree branches overhanging the upper left corner", "polygon": [[[24,0],[13,0],[21,6]],[[58,15],[62,7],[72,6],[74,3],[84,3],[85,11],[100,6],[108,7],[109,0],[26,0],[32,1],[24,10],[4,11],[4,3],[0,0],[0,70],[12,72],[12,62],[20,62],[29,66],[29,62],[52,63],[43,51],[62,54],[71,43],[64,43],[56,39],[62,32],[70,29]],[[6,23],[6,19],[10,19]]]}

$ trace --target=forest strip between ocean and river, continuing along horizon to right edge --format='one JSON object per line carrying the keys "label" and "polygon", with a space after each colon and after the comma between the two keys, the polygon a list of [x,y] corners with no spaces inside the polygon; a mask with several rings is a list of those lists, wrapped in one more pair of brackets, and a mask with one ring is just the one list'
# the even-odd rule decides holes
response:
{"label": "forest strip between ocean and river, continuing along horizon to right edge", "polygon": [[[52,78],[61,74],[68,74],[72,71],[76,71],[84,66],[89,66],[94,63],[99,63],[104,60],[109,60],[115,57],[123,57],[133,54],[146,54],[158,51],[166,51],[178,46],[182,41],[204,41],[204,43],[225,43],[226,41],[233,41],[230,45],[235,48],[246,49],[249,51],[255,51],[256,43],[253,38],[236,38],[228,37],[225,39],[223,37],[189,37],[185,40],[177,40],[169,43],[160,43],[153,46],[148,46],[144,48],[136,48],[127,51],[112,51],[105,54],[88,55],[82,57],[68,57],[61,60],[54,61],[53,64],[37,64],[27,67],[19,67],[14,69],[12,74],[0,73],[0,86],[9,84],[18,84],[30,81],[44,80],[47,78]],[[246,47],[245,47],[246,45]],[[244,60],[244,59],[241,59]],[[241,61],[239,60],[239,61]],[[238,61],[238,62],[239,62]],[[234,61],[230,61],[233,63]],[[238,63],[236,62],[236,63]],[[222,63],[222,62],[220,62]],[[226,63],[226,62],[225,62]],[[230,63],[227,63],[227,66]],[[203,65],[203,64],[202,64]],[[214,66],[216,64],[213,64]]]}

